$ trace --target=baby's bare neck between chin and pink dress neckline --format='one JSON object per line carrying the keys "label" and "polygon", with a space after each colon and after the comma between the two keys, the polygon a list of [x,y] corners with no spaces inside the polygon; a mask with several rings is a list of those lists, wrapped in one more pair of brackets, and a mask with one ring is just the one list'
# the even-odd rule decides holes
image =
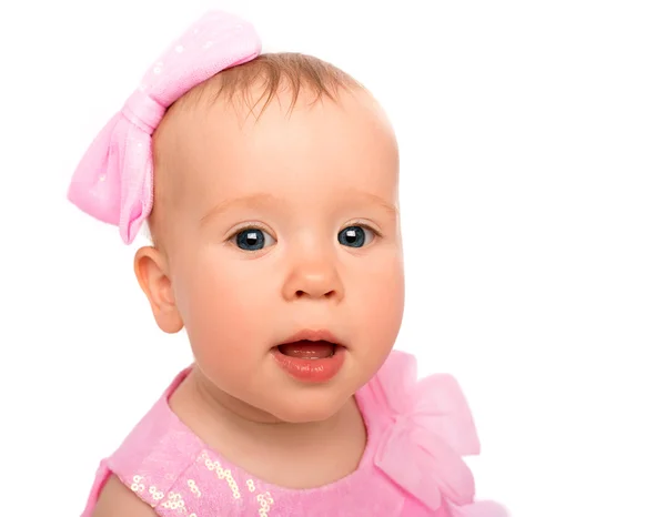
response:
{"label": "baby's bare neck between chin and pink dress neckline", "polygon": [[290,424],[212,393],[202,377],[194,368],[171,396],[170,406],[230,463],[285,488],[313,488],[356,469],[366,433],[354,397],[331,418]]}

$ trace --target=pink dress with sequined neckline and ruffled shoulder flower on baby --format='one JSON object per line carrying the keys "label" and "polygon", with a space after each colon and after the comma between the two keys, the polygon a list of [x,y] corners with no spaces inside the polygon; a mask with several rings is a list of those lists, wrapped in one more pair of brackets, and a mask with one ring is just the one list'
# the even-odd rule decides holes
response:
{"label": "pink dress with sequined neckline and ruffled shoulder flower on baby", "polygon": [[359,468],[313,489],[282,488],[206,446],[170,409],[181,372],[122,445],[102,460],[82,517],[111,474],[165,517],[505,517],[474,501],[462,456],[477,454],[467,404],[453,377],[416,379],[413,356],[393,352],[356,394],[367,428]]}

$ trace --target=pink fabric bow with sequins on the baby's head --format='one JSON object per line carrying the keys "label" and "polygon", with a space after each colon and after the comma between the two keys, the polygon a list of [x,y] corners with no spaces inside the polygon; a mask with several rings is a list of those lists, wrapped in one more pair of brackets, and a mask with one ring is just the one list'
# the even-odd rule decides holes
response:
{"label": "pink fabric bow with sequins on the baby's head", "polygon": [[167,109],[193,87],[260,52],[250,23],[221,11],[205,13],[161,55],[94,139],[74,171],[68,199],[118,225],[123,242],[131,243],[152,210],[151,136]]}

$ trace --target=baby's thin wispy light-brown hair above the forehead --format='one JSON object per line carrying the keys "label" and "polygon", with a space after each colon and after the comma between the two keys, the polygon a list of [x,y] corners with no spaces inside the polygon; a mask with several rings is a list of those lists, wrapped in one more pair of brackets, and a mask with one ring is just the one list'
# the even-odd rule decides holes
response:
{"label": "baby's thin wispy light-brown hair above the forehead", "polygon": [[[313,98],[312,103],[322,98],[335,102],[341,89],[365,91],[350,74],[319,58],[296,52],[265,53],[244,64],[219,72],[193,88],[169,107],[167,116],[169,111],[188,110],[202,102],[212,105],[222,100],[235,104],[236,109],[242,109],[244,104],[249,111],[248,116],[253,114],[259,121],[270,102],[282,91],[291,93],[289,113],[304,91]],[[255,110],[262,101],[263,105],[256,113]],[[157,180],[155,203],[164,202],[163,191],[160,181]],[[155,217],[151,215],[142,232],[153,245],[157,245],[155,223]]]}

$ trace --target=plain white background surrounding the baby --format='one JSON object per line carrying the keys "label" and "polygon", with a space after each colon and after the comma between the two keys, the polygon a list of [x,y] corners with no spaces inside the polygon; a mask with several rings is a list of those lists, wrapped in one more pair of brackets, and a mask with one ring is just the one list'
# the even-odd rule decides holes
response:
{"label": "plain white background surrounding the baby", "polygon": [[371,88],[402,148],[397,347],[462,383],[478,496],[515,517],[666,516],[666,16],[646,1],[2,0],[3,515],[79,515],[188,364],[137,245],[65,201],[204,8]]}

